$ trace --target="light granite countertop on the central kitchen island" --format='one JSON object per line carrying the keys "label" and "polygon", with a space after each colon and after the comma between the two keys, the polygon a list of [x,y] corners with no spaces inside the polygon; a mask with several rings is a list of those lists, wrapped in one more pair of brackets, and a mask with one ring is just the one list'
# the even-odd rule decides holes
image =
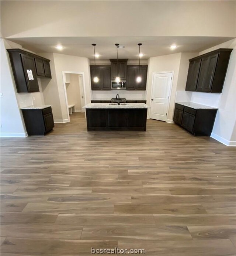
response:
{"label": "light granite countertop on the central kitchen island", "polygon": [[128,105],[110,105],[109,103],[89,103],[83,109],[150,109],[145,103],[127,103]]}

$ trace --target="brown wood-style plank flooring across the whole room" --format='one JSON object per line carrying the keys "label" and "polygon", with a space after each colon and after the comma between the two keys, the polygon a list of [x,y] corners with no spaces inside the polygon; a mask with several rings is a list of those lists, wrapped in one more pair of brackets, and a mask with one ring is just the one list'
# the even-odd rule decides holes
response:
{"label": "brown wood-style plank flooring across the whole room", "polygon": [[235,256],[235,161],[175,124],[87,132],[83,113],[45,137],[1,139],[1,256]]}

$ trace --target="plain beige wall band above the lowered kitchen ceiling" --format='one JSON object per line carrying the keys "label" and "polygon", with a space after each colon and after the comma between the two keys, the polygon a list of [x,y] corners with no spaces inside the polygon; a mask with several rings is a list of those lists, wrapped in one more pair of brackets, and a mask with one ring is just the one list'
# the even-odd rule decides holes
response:
{"label": "plain beige wall band above the lowered kitchen ceiling", "polygon": [[235,37],[235,30],[235,1],[1,1],[2,37]]}

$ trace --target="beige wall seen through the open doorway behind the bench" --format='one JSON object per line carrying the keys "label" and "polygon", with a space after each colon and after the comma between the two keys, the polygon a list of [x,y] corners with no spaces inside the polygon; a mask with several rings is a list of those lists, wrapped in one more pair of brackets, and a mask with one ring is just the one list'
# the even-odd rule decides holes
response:
{"label": "beige wall seen through the open doorway behind the bench", "polygon": [[80,95],[80,79],[79,74],[68,74],[70,83],[66,83],[66,94],[68,105],[74,104],[75,110],[82,110]]}

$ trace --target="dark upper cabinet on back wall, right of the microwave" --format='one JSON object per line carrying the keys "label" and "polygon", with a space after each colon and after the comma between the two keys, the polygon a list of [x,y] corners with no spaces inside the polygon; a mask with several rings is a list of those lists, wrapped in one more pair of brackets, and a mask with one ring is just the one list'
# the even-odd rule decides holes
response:
{"label": "dark upper cabinet on back wall, right of the microwave", "polygon": [[[137,82],[136,78],[140,76],[141,82]],[[127,90],[146,90],[147,83],[147,65],[128,65],[127,66]]]}

